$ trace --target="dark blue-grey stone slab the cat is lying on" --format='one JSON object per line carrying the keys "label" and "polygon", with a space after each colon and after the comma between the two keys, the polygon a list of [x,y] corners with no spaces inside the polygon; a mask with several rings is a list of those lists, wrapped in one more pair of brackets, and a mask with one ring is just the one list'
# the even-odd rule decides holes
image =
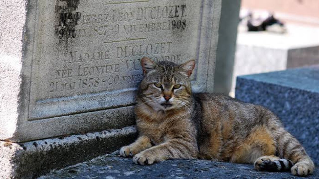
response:
{"label": "dark blue-grey stone slab the cat is lying on", "polygon": [[214,162],[205,160],[169,160],[149,166],[136,165],[131,158],[122,158],[117,153],[97,157],[61,170],[51,171],[38,179],[87,179],[87,178],[160,178],[160,179],[313,179],[319,178],[319,168],[313,175],[298,177],[289,172],[258,172],[253,165]]}

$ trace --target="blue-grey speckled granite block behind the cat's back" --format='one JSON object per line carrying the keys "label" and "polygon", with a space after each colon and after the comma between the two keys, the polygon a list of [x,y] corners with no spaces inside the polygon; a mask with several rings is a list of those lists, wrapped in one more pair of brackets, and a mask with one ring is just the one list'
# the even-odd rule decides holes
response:
{"label": "blue-grey speckled granite block behind the cat's back", "polygon": [[319,165],[319,66],[239,76],[235,97],[278,115]]}

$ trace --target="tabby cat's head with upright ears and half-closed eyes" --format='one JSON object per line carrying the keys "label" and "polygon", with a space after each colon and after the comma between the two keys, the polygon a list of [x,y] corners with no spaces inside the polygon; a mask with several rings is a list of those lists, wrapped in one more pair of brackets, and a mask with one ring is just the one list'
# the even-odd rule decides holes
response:
{"label": "tabby cat's head with upright ears and half-closed eyes", "polygon": [[176,65],[169,61],[155,63],[144,57],[141,65],[144,79],[140,84],[140,102],[148,104],[155,111],[190,107],[189,77],[195,67],[195,60]]}

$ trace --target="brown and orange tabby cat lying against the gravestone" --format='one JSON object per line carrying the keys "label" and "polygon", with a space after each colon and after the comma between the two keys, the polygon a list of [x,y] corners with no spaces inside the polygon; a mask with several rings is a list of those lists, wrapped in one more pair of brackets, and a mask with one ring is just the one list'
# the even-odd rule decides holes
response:
{"label": "brown and orange tabby cat lying against the gravestone", "polygon": [[220,94],[192,93],[195,67],[142,58],[135,107],[138,139],[120,154],[136,164],[168,159],[254,163],[257,170],[306,176],[314,163],[268,109]]}

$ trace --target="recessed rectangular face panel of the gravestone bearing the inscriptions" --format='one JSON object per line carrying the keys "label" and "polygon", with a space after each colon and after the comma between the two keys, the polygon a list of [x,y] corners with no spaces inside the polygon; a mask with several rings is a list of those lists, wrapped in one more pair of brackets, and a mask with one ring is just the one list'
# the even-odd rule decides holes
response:
{"label": "recessed rectangular face panel of the gravestone bearing the inscriptions", "polygon": [[192,0],[39,1],[29,118],[133,103],[142,57],[177,64],[197,58],[201,6]]}

